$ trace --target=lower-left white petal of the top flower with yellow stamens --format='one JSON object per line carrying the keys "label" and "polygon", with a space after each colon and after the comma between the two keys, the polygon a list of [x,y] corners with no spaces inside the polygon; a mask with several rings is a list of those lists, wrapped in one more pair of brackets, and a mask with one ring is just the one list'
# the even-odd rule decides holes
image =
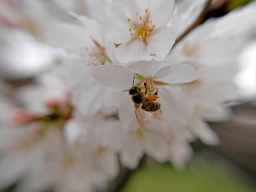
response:
{"label": "lower-left white petal of the top flower with yellow stamens", "polygon": [[121,44],[115,50],[115,58],[122,63],[143,60],[150,57],[150,52],[145,43],[139,39]]}

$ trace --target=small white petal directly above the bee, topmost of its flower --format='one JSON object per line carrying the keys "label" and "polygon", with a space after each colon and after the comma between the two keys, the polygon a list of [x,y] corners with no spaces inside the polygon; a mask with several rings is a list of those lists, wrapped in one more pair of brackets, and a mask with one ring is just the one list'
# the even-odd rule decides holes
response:
{"label": "small white petal directly above the bee, topmost of its flower", "polygon": [[157,62],[155,60],[152,61],[137,61],[133,62],[128,66],[128,69],[134,71],[139,75],[144,77],[154,76],[156,73],[166,67],[169,66],[166,62]]}

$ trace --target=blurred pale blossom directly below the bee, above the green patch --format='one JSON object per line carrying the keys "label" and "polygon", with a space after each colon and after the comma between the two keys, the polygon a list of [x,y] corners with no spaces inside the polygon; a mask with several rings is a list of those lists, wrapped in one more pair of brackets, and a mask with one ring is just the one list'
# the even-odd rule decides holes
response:
{"label": "blurred pale blossom directly below the bee, above the green patch", "polygon": [[188,134],[158,116],[137,130],[124,130],[120,126],[105,129],[104,134],[112,135],[108,142],[111,138],[113,147],[120,154],[121,164],[129,169],[136,169],[144,155],[159,163],[171,161],[178,169],[184,167],[192,156]]}

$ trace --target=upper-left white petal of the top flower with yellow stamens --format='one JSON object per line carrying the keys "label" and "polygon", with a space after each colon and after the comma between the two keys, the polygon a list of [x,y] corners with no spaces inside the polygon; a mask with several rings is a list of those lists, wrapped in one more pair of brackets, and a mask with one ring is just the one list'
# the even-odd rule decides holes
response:
{"label": "upper-left white petal of the top flower with yellow stamens", "polygon": [[102,29],[103,36],[112,43],[126,43],[131,39],[127,16],[119,6],[99,6],[95,18]]}

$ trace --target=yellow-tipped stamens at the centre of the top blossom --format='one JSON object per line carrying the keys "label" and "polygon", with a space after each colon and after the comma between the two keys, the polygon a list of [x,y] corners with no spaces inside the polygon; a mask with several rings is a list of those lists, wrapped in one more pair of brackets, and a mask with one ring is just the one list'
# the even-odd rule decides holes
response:
{"label": "yellow-tipped stamens at the centre of the top blossom", "polygon": [[144,43],[149,41],[149,36],[154,30],[155,25],[152,24],[152,20],[150,20],[150,13],[148,9],[145,9],[145,14],[138,15],[136,12],[136,19],[133,21],[130,18],[127,18],[128,22],[130,23],[129,31],[130,35],[134,38],[139,38]]}

